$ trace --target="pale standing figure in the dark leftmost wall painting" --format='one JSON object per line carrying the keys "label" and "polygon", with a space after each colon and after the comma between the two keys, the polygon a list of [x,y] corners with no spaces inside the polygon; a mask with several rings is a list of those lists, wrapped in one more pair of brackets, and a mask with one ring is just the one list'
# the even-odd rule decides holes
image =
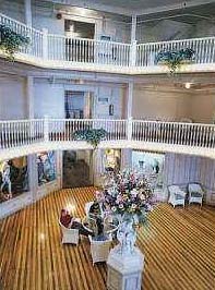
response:
{"label": "pale standing figure in the dark leftmost wall painting", "polygon": [[[7,189],[7,194],[4,194],[4,189]],[[11,191],[11,166],[10,161],[3,162],[1,167],[1,193],[4,195],[5,200],[12,198]]]}

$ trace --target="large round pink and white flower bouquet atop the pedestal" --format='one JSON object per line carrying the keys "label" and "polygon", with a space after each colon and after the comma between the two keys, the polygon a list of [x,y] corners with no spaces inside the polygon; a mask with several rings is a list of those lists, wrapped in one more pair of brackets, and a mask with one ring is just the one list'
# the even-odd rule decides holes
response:
{"label": "large round pink and white flower bouquet atop the pedestal", "polygon": [[130,170],[112,173],[104,185],[104,203],[110,212],[124,218],[133,217],[135,223],[146,221],[152,210],[153,192],[145,177]]}

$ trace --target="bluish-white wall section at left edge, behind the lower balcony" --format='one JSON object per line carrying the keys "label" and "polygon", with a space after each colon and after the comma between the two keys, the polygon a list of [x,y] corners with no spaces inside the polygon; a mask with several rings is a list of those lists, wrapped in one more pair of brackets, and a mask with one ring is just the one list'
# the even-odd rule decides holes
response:
{"label": "bluish-white wall section at left edge, behind the lower balcony", "polygon": [[0,77],[0,120],[24,119],[26,116],[25,80]]}

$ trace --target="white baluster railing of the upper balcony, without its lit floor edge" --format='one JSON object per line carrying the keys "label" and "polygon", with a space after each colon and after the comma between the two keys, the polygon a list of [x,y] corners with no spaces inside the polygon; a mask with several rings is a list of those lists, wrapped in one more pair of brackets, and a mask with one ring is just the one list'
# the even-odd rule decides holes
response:
{"label": "white baluster railing of the upper balcony, without its lit floor edge", "polygon": [[[156,68],[155,58],[159,51],[191,48],[195,52],[194,64],[215,63],[215,37],[193,38],[150,44],[121,44],[86,38],[70,38],[48,34],[47,29],[36,31],[0,13],[0,23],[10,26],[14,32],[28,36],[31,45],[20,52],[26,57],[43,59],[49,65],[69,63],[87,64],[87,68],[105,67],[128,69]],[[81,67],[82,68],[82,67]],[[133,70],[133,71],[132,71]]]}

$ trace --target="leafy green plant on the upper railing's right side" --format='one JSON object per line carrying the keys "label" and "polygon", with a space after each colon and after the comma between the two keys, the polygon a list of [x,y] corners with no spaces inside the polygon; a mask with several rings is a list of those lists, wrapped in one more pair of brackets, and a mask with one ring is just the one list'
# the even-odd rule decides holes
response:
{"label": "leafy green plant on the upper railing's right side", "polygon": [[191,48],[180,49],[180,50],[169,50],[159,51],[156,56],[156,63],[165,63],[171,74],[180,68],[180,65],[187,61],[192,61],[194,59],[194,50]]}

